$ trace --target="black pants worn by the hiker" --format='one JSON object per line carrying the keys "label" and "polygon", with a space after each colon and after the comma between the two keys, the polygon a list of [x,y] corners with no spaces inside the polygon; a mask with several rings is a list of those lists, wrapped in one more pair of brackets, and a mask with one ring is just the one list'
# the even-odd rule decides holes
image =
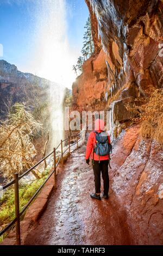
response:
{"label": "black pants worn by the hiker", "polygon": [[104,194],[109,192],[109,174],[108,174],[109,160],[92,161],[93,173],[95,175],[95,191],[97,194],[101,192],[101,172],[104,182]]}

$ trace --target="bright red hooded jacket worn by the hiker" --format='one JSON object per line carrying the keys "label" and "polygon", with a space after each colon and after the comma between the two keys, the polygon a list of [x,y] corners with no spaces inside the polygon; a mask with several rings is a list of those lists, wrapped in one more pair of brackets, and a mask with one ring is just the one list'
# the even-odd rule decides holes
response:
{"label": "bright red hooded jacket worn by the hiker", "polygon": [[[104,121],[102,119],[96,119],[95,121],[95,131],[97,132],[101,132],[104,129]],[[110,143],[110,136],[108,135],[108,142]],[[91,132],[90,136],[87,140],[87,145],[86,145],[86,155],[85,155],[85,159],[89,159],[91,156],[91,159],[93,159],[93,148],[96,144],[96,133],[95,132]],[[96,155],[96,153],[94,153],[94,160],[98,161],[98,160],[108,160],[109,159],[109,155],[106,156],[98,156]]]}

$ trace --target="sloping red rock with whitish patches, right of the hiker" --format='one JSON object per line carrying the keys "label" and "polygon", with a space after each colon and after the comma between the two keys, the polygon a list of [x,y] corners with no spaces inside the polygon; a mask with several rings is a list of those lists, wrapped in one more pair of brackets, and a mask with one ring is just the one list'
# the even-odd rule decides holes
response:
{"label": "sloping red rock with whitish patches, right of the hiker", "polygon": [[115,142],[111,187],[127,211],[136,245],[163,244],[163,156],[155,141],[141,139],[139,126],[123,131]]}

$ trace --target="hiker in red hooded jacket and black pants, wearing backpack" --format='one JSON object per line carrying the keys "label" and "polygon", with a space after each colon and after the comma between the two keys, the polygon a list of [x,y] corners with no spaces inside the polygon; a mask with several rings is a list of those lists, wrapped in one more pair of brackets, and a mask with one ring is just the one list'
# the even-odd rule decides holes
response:
{"label": "hiker in red hooded jacket and black pants, wearing backpack", "polygon": [[[110,137],[108,133],[103,132],[104,130],[104,121],[102,119],[96,119],[95,121],[95,131],[90,133],[89,139],[87,141],[86,146],[86,156],[85,160],[86,163],[89,164],[89,157],[91,156],[92,159],[92,167],[93,167],[93,173],[95,175],[95,193],[91,193],[91,198],[95,198],[98,200],[101,200],[101,172],[102,172],[102,178],[104,182],[104,191],[103,191],[103,198],[108,199],[108,192],[109,192],[109,174],[108,174],[108,164],[109,164],[109,151],[105,151],[104,153],[100,153],[100,150],[97,148],[97,145],[99,145],[99,137],[98,135],[102,135],[104,133],[106,144],[104,143],[100,144],[100,147],[105,148],[111,147],[110,144]],[[103,150],[103,148],[102,148]],[[104,154],[107,155],[104,155]]]}

